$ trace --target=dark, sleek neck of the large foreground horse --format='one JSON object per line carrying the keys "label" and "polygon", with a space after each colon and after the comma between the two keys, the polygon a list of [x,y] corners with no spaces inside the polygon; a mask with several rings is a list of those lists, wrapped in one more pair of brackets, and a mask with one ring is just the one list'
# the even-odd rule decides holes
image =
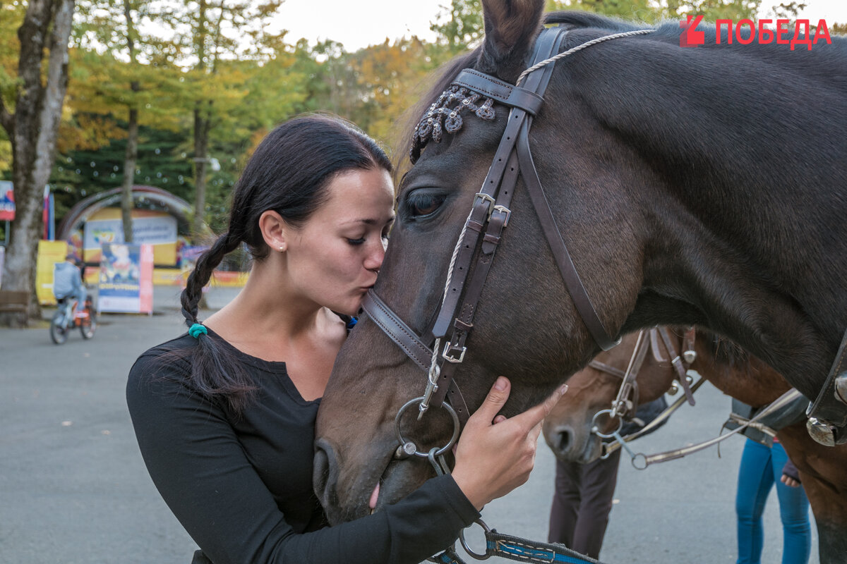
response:
{"label": "dark, sleek neck of the large foreground horse", "polygon": [[623,66],[587,49],[597,60],[565,86],[591,122],[571,128],[602,136],[605,174],[627,179],[628,216],[644,218],[645,285],[625,328],[710,326],[815,397],[847,327],[847,90],[664,47],[621,52]]}

